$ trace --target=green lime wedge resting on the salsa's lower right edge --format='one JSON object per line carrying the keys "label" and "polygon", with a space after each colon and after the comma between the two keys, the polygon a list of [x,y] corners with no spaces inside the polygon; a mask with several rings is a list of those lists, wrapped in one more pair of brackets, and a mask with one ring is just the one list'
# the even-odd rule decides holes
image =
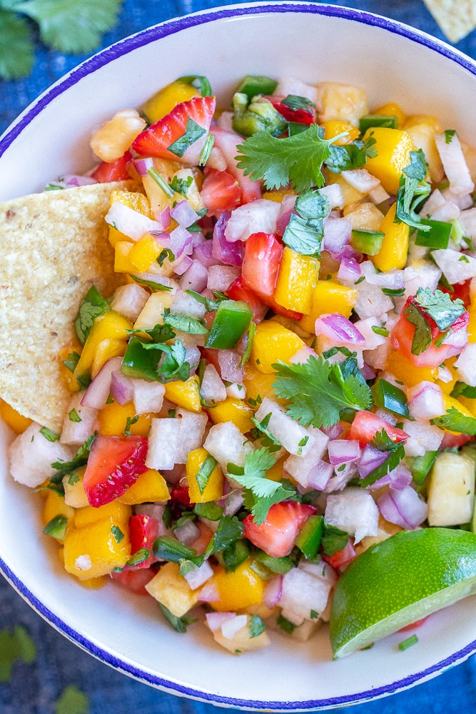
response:
{"label": "green lime wedge resting on the salsa's lower right edge", "polygon": [[372,545],[334,590],[330,643],[348,655],[476,592],[476,535],[401,531]]}

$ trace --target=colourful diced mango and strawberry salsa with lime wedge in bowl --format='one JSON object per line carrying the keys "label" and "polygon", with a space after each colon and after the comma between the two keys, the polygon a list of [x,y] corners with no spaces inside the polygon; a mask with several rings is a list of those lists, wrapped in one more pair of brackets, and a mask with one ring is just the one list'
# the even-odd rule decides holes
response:
{"label": "colourful diced mango and strawberry salsa with lime wedge in bowl", "polygon": [[2,407],[66,571],[231,653],[330,620],[338,657],[470,594],[476,151],[263,76],[229,111],[182,77],[91,148],[47,188],[131,182],[105,216],[123,284],[79,308],[61,434]]}

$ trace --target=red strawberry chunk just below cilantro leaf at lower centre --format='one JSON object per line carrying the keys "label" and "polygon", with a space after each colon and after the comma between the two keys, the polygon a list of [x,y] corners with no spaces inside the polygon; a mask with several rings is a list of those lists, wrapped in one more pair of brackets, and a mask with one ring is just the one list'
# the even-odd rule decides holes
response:
{"label": "red strawberry chunk just below cilantro leaf at lower centre", "polygon": [[313,506],[296,501],[281,501],[271,506],[265,521],[253,522],[253,516],[243,521],[245,538],[273,558],[282,558],[293,550],[296,536],[305,520],[315,513]]}

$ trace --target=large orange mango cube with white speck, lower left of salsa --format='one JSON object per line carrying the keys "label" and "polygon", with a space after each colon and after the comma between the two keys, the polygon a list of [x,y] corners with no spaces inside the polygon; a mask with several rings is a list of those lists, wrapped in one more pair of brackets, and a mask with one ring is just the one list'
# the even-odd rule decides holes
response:
{"label": "large orange mango cube with white speck, lower left of salsa", "polygon": [[64,567],[79,580],[112,573],[114,568],[123,568],[130,557],[127,522],[124,525],[113,516],[93,521],[83,528],[69,528],[64,539]]}

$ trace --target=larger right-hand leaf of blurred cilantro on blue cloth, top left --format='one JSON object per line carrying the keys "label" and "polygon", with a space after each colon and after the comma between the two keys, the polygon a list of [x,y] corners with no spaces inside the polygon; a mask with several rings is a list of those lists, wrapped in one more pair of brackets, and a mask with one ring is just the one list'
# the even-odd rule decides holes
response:
{"label": "larger right-hand leaf of blurred cilantro on blue cloth, top left", "polygon": [[26,0],[17,12],[39,24],[40,39],[59,52],[92,52],[116,23],[121,0]]}

